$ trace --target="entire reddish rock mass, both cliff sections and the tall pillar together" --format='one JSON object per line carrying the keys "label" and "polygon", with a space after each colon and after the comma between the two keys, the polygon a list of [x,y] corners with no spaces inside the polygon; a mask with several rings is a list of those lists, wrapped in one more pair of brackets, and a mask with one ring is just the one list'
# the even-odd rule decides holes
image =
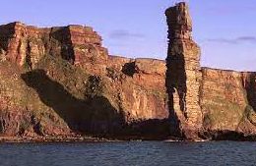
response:
{"label": "entire reddish rock mass, both cliff sections and the tall pillar together", "polygon": [[108,55],[93,28],[0,26],[0,136],[256,136],[256,73],[200,67],[188,7],[166,10],[168,55]]}

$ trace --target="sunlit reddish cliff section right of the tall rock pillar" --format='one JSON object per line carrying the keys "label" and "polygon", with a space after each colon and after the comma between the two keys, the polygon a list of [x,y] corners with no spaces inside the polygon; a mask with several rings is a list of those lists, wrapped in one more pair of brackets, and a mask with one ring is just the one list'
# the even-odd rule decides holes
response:
{"label": "sunlit reddish cliff section right of the tall rock pillar", "polygon": [[210,131],[256,133],[255,73],[203,68],[201,104]]}

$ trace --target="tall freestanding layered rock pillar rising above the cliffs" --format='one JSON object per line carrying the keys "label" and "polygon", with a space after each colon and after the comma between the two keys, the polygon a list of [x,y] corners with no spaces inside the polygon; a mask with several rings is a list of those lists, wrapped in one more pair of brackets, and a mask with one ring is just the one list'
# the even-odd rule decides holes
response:
{"label": "tall freestanding layered rock pillar rising above the cliffs", "polygon": [[192,21],[186,3],[168,8],[165,15],[169,39],[166,87],[171,132],[177,137],[196,139],[202,128],[200,48],[192,40]]}

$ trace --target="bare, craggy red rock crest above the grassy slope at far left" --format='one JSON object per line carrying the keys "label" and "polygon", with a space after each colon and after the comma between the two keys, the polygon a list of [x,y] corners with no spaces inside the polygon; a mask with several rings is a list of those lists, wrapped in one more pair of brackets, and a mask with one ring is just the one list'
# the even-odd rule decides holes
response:
{"label": "bare, craggy red rock crest above the grassy slope at far left", "polygon": [[[32,69],[44,55],[54,55],[90,72],[103,73],[107,50],[93,28],[35,28],[22,23],[0,27],[2,59]],[[90,66],[90,68],[87,68]]]}

